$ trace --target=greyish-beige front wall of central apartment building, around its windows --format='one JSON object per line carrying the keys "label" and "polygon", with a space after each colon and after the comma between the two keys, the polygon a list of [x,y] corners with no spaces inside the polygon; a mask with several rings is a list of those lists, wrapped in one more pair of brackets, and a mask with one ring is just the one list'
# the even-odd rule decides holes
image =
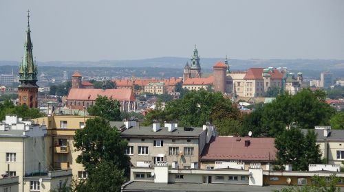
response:
{"label": "greyish-beige front wall of central apartment building, around its windows", "polygon": [[[143,138],[142,138],[143,139]],[[164,141],[163,147],[154,147],[153,141],[156,139],[142,139],[130,138],[128,141],[129,146],[133,146],[133,155],[129,155],[131,158],[131,163],[136,167],[138,161],[151,161],[153,164],[152,154],[164,154],[164,161],[171,166],[172,162],[177,161],[180,167],[190,166],[193,162],[198,162],[199,149],[198,149],[198,139],[191,139],[187,142],[187,139],[162,139]],[[139,155],[138,146],[148,146],[148,155]],[[184,147],[193,147],[193,156],[180,156],[179,152],[177,155],[169,155],[169,147],[179,147],[179,151],[184,153]]]}

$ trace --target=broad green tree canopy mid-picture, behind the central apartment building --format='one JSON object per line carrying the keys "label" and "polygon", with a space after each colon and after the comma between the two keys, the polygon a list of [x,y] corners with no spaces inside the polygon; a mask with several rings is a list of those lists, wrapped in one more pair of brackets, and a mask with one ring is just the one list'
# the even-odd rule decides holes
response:
{"label": "broad green tree canopy mid-picture, behind the central apartment building", "polygon": [[223,134],[237,134],[241,128],[238,127],[241,126],[239,109],[230,99],[224,98],[222,93],[210,93],[204,89],[189,91],[182,99],[167,102],[164,110],[155,108],[145,117],[144,124],[149,125],[153,120],[178,121],[178,125],[195,127],[209,121]]}

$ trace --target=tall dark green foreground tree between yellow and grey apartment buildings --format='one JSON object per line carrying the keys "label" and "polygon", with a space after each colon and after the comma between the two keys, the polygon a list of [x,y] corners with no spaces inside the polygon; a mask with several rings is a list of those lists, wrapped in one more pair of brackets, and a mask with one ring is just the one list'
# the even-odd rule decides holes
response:
{"label": "tall dark green foreground tree between yellow and grey apartment buildings", "polygon": [[77,184],[77,191],[120,191],[130,169],[129,156],[125,155],[127,141],[109,121],[87,119],[85,128],[76,131],[74,146],[81,152],[76,162],[89,173],[85,182]]}

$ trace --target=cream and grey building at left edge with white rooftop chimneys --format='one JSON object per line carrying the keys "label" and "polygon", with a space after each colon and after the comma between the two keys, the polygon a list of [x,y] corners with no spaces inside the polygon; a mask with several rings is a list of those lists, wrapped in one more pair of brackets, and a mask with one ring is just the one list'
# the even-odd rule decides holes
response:
{"label": "cream and grey building at left edge with white rooftop chimneys", "polygon": [[24,177],[45,173],[47,139],[45,125],[6,115],[0,123],[0,173],[19,176],[19,191]]}

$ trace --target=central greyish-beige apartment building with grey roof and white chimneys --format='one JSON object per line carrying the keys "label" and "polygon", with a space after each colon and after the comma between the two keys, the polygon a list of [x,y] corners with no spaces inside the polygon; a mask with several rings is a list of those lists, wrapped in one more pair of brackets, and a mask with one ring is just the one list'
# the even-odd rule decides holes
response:
{"label": "central greyish-beige apartment building with grey roof and white chimneys", "polygon": [[153,123],[140,127],[135,121],[122,130],[121,136],[128,141],[126,154],[133,167],[154,167],[166,163],[173,169],[197,169],[200,154],[215,134],[215,126],[180,128],[176,123]]}

